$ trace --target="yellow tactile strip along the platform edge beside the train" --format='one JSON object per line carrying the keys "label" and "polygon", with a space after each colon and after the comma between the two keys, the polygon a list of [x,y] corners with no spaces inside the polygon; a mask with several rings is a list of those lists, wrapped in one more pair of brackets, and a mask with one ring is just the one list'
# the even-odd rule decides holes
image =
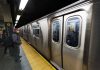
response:
{"label": "yellow tactile strip along the platform edge beside the train", "polygon": [[32,70],[56,70],[44,57],[42,57],[32,46],[21,38],[22,48],[32,67]]}

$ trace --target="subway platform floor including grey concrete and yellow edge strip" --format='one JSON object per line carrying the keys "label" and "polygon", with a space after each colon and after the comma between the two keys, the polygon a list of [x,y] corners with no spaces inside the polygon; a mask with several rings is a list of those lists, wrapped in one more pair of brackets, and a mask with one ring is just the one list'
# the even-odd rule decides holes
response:
{"label": "subway platform floor including grey concrete and yellow edge strip", "polygon": [[24,39],[21,38],[21,41],[20,55],[22,57],[19,63],[15,62],[9,53],[4,55],[4,47],[0,47],[0,70],[56,70]]}

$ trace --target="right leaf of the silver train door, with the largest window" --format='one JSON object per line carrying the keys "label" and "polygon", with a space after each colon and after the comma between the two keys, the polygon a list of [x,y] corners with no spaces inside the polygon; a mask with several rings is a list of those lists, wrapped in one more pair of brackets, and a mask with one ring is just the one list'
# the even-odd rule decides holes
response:
{"label": "right leaf of the silver train door, with the largest window", "polygon": [[82,70],[87,13],[64,15],[63,68]]}

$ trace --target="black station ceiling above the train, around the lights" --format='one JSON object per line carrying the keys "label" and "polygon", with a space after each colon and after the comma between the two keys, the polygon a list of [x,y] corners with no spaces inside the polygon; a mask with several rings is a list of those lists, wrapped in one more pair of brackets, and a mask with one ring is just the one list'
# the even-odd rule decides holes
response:
{"label": "black station ceiling above the train, around the lights", "polygon": [[78,0],[29,0],[24,11],[18,11],[20,0],[7,0],[11,7],[13,23],[16,15],[21,14],[16,27],[21,27],[31,21],[50,14]]}

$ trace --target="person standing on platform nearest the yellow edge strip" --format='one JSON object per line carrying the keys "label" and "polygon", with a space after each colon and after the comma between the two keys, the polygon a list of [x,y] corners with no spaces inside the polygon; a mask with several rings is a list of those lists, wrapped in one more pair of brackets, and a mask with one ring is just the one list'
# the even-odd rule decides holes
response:
{"label": "person standing on platform nearest the yellow edge strip", "polygon": [[20,62],[20,45],[21,45],[21,40],[19,36],[19,30],[14,29],[13,34],[12,34],[12,39],[13,39],[13,46],[14,46],[14,59],[16,62]]}

